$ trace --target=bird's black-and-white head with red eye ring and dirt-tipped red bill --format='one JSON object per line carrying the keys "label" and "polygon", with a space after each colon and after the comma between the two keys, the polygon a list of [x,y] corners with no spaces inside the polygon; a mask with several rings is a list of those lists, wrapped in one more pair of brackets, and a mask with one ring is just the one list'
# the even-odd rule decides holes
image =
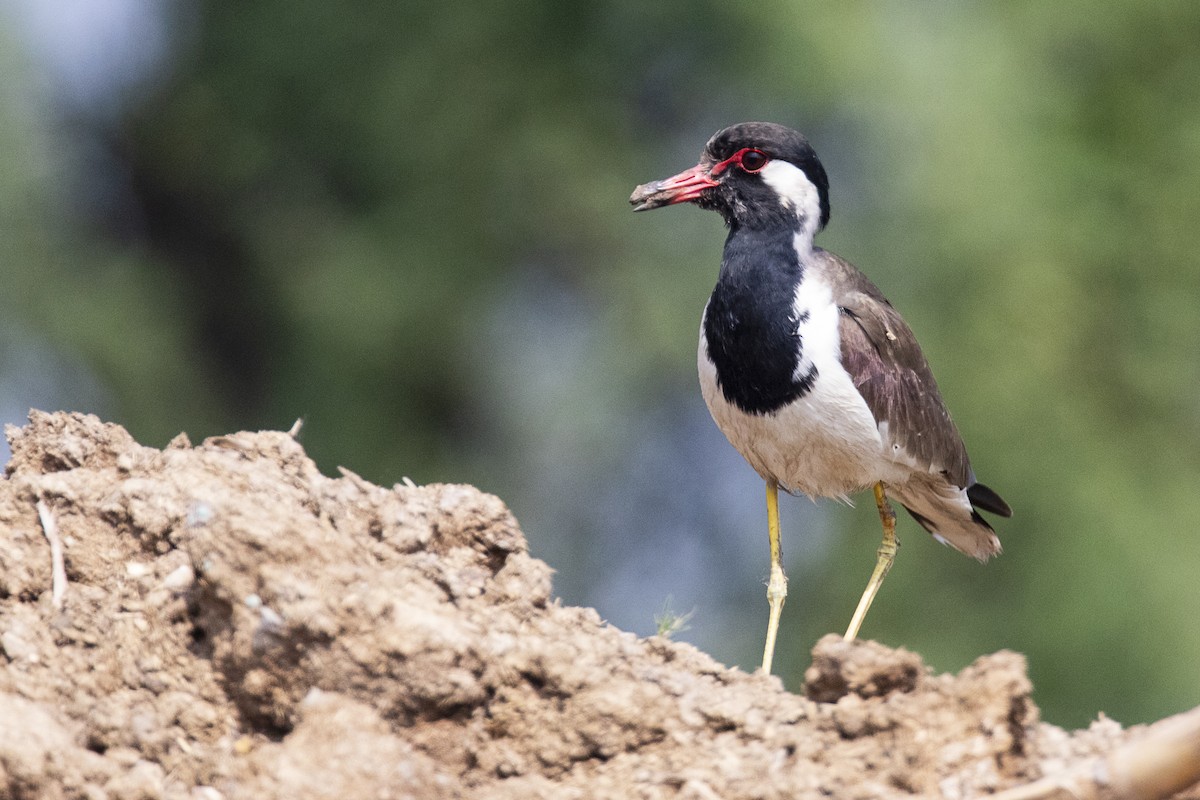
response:
{"label": "bird's black-and-white head with red eye ring and dirt-tipped red bill", "polygon": [[829,221],[829,180],[809,140],[774,122],[718,131],[700,163],[629,198],[635,211],[695,203],[731,227],[793,225],[810,239]]}

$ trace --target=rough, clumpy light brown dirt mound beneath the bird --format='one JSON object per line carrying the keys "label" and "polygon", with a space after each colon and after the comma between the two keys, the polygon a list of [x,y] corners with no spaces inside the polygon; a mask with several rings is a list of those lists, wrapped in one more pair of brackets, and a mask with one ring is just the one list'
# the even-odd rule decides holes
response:
{"label": "rough, clumpy light brown dirt mound beneath the bird", "polygon": [[8,438],[0,798],[967,798],[1129,736],[1040,723],[1013,652],[830,636],[787,693],[552,601],[494,497],[325,477],[286,433]]}

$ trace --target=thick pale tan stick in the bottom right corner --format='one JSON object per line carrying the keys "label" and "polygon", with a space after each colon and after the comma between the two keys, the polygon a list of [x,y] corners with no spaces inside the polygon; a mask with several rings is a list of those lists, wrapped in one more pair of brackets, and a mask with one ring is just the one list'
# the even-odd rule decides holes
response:
{"label": "thick pale tan stick in the bottom right corner", "polygon": [[1200,782],[1200,706],[1156,722],[1104,758],[991,800],[1158,800]]}

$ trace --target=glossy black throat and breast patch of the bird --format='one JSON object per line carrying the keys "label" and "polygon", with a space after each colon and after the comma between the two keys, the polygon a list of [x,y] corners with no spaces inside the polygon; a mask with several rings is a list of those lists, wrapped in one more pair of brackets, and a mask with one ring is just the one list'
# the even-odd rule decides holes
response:
{"label": "glossy black throat and breast patch of the bird", "polygon": [[[796,375],[803,345],[796,288],[804,276],[788,228],[733,228],[704,313],[708,357],[721,393],[748,414],[770,414],[812,389],[816,366]],[[806,312],[805,312],[806,313]]]}

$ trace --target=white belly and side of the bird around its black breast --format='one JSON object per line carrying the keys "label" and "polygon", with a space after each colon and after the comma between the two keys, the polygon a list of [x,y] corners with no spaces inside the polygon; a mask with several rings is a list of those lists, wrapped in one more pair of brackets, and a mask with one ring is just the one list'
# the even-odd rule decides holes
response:
{"label": "white belly and side of the bird around its black breast", "polygon": [[883,452],[875,416],[841,366],[839,311],[828,285],[804,281],[796,306],[797,318],[805,320],[800,368],[816,366],[817,380],[772,414],[746,414],[725,399],[701,326],[700,385],[716,427],[763,479],[792,492],[845,499],[876,481],[898,479],[893,473],[899,465]]}

